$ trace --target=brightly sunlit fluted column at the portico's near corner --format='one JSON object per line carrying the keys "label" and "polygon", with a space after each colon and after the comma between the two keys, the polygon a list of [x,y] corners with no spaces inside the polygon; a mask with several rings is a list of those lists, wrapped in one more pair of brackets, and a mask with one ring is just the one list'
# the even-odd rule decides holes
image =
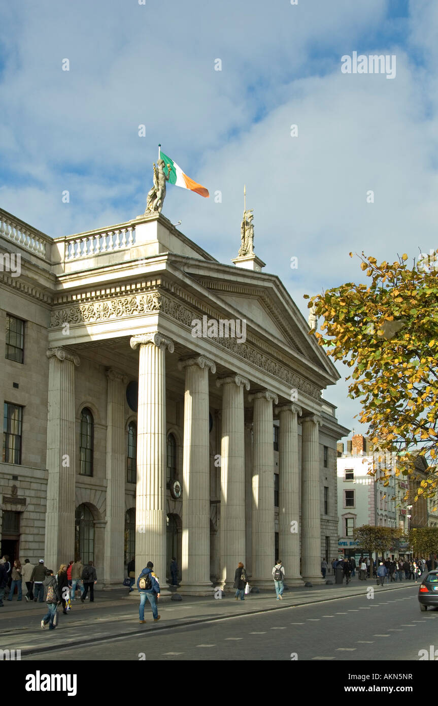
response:
{"label": "brightly sunlit fluted column at the portico's near corner", "polygon": [[135,495],[135,572],[148,561],[166,587],[166,348],[159,333],[133,336],[138,363],[137,487]]}

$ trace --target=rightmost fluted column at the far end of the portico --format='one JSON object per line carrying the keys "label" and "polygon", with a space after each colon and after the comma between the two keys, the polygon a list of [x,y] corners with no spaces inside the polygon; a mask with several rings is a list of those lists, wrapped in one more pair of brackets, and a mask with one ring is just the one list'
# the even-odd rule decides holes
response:
{"label": "rightmost fluted column at the far end of the portico", "polygon": [[303,427],[301,463],[301,571],[304,581],[324,583],[321,576],[320,417],[310,414]]}

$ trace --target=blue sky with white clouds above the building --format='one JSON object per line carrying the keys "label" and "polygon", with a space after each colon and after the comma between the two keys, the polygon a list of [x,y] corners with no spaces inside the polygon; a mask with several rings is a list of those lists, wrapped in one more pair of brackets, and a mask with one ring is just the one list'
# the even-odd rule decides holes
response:
{"label": "blue sky with white clouds above the building", "polygon": [[[306,318],[303,294],[365,281],[350,251],[437,248],[436,0],[142,1],[3,5],[1,208],[51,237],[130,220],[161,143],[210,193],[168,186],[163,214],[231,264],[246,184],[255,253]],[[343,73],[353,52],[394,78]],[[336,366],[324,397],[365,433]]]}

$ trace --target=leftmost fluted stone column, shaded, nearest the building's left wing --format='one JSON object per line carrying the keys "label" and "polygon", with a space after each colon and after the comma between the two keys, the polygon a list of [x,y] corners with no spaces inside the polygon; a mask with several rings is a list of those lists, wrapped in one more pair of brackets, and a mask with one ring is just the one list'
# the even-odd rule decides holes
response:
{"label": "leftmost fluted stone column, shaded, nearest the building's left wing", "polygon": [[44,562],[54,571],[75,558],[75,366],[80,358],[50,348],[47,410],[47,510]]}

